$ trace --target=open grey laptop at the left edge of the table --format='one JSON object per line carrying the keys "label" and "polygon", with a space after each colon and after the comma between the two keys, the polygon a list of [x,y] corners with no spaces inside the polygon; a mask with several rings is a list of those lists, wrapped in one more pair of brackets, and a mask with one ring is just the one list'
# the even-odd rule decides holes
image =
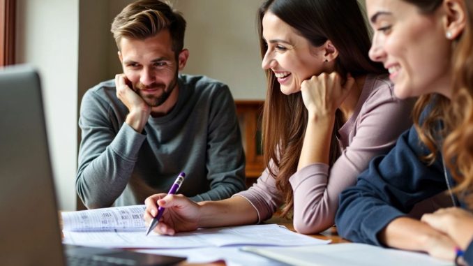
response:
{"label": "open grey laptop at the left edge of the table", "polygon": [[40,77],[27,65],[0,68],[0,265],[70,266],[81,260],[173,265],[185,258],[61,243]]}

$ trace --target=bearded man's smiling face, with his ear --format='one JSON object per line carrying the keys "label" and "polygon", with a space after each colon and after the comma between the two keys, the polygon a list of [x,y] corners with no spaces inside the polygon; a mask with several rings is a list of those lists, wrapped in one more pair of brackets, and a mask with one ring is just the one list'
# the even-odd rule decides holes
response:
{"label": "bearded man's smiling face, with his ear", "polygon": [[186,64],[186,52],[176,59],[168,30],[137,40],[121,38],[119,58],[130,87],[151,107],[166,102],[177,87],[177,74]]}

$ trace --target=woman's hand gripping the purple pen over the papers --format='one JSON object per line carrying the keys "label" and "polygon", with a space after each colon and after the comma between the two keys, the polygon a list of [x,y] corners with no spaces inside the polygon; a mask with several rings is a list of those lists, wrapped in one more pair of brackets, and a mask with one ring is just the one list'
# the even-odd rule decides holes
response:
{"label": "woman's hand gripping the purple pen over the papers", "polygon": [[163,216],[154,228],[160,235],[174,235],[176,232],[193,231],[198,228],[200,205],[183,195],[155,194],[144,200],[146,210],[144,221],[147,226],[158,215],[158,206],[165,207]]}

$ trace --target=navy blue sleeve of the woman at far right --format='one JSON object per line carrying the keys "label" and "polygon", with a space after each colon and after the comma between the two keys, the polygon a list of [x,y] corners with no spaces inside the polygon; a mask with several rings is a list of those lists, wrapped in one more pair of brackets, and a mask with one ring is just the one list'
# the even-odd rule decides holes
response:
{"label": "navy blue sleeve of the woman at far right", "polygon": [[377,234],[393,219],[405,216],[416,202],[446,190],[441,159],[431,165],[420,161],[427,154],[420,143],[412,126],[389,154],[370,162],[356,186],[341,193],[336,214],[340,236],[380,245]]}

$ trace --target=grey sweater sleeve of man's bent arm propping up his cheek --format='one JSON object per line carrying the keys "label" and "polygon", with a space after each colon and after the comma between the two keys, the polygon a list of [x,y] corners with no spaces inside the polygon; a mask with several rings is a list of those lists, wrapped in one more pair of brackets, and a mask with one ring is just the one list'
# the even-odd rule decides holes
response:
{"label": "grey sweater sleeve of man's bent arm propping up his cheek", "polygon": [[109,115],[110,106],[87,91],[80,108],[82,141],[75,179],[77,193],[87,208],[110,207],[117,200],[146,139],[126,123],[114,132],[116,119]]}

